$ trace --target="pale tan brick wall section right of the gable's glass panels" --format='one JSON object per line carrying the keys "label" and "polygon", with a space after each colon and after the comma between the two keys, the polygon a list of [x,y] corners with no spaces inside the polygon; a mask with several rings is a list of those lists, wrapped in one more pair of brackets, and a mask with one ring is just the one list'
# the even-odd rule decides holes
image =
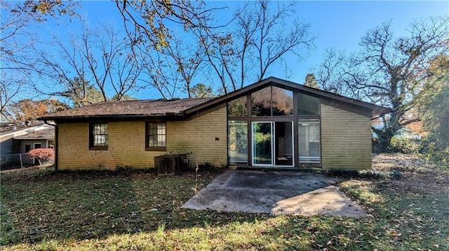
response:
{"label": "pale tan brick wall section right of the gable's glass panels", "polygon": [[369,117],[321,105],[323,168],[371,168],[370,125]]}

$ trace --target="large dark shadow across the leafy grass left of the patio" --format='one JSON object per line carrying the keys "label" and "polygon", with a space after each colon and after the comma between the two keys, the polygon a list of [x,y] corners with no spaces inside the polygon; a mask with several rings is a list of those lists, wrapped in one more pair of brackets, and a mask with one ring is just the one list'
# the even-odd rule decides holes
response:
{"label": "large dark shadow across the leafy grass left of the patio", "polygon": [[207,173],[158,177],[144,171],[46,172],[1,180],[1,245],[105,239],[163,229],[253,222],[270,215],[180,209]]}

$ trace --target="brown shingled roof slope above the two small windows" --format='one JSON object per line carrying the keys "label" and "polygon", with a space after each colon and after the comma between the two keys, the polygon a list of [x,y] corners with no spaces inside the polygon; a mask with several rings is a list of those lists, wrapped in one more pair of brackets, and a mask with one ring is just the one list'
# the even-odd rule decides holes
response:
{"label": "brown shingled roof slope above the two small windows", "polygon": [[58,120],[83,117],[158,117],[184,115],[184,111],[209,101],[210,98],[105,101],[90,106],[62,110],[40,117]]}

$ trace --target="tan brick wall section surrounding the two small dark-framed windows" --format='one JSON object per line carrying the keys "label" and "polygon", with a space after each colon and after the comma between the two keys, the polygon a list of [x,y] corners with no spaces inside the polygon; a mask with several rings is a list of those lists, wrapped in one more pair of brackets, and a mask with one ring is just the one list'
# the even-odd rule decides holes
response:
{"label": "tan brick wall section surrounding the two small dark-framed windows", "polygon": [[[167,122],[167,152],[145,151],[145,122],[109,122],[108,150],[89,150],[89,124],[64,123],[58,129],[60,169],[152,168],[154,157],[187,153],[191,164],[227,162],[226,108],[189,121]],[[215,137],[220,138],[215,141]]]}

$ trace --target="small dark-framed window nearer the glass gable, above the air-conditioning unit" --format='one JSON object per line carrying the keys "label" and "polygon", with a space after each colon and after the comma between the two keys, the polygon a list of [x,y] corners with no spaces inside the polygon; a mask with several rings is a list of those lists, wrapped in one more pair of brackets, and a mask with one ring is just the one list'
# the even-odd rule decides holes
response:
{"label": "small dark-framed window nearer the glass gable, above the air-conditioning unit", "polygon": [[165,151],[166,150],[166,123],[147,122],[147,151]]}

